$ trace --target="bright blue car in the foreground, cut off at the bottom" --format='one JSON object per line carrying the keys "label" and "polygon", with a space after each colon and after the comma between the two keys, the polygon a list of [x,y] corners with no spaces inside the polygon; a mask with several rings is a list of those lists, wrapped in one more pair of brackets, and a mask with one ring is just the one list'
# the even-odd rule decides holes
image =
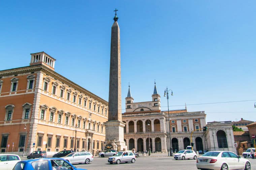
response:
{"label": "bright blue car in the foreground, cut off at the bottom", "polygon": [[43,158],[17,162],[13,170],[85,170],[76,168],[62,158]]}

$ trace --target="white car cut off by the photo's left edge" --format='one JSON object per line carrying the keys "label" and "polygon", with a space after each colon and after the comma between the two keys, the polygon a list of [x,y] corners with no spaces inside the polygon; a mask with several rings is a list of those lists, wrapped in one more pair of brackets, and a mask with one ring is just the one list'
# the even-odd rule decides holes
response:
{"label": "white car cut off by the photo's left edge", "polygon": [[0,169],[12,170],[19,161],[21,158],[18,155],[0,154]]}

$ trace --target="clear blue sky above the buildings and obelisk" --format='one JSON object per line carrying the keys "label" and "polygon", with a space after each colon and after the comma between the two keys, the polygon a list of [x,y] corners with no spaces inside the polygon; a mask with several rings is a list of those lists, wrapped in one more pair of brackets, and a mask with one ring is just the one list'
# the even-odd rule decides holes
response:
{"label": "clear blue sky above the buildings and obelisk", "polygon": [[[122,108],[150,101],[154,80],[169,109],[206,122],[256,120],[256,1],[0,1],[0,70],[45,51],[55,71],[108,101],[110,33],[121,30]],[[10,60],[11,59],[11,60]],[[246,100],[246,101],[244,101]],[[251,100],[251,101],[248,101]],[[216,104],[203,104],[240,101]],[[190,105],[194,104],[194,105]],[[125,110],[123,110],[124,112]]]}

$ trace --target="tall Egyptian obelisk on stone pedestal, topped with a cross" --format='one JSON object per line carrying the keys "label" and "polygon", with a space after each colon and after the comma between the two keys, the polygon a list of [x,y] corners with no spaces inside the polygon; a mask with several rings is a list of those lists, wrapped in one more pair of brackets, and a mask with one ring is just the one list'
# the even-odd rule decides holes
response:
{"label": "tall Egyptian obelisk on stone pedestal, topped with a cross", "polygon": [[115,22],[111,27],[108,121],[105,122],[105,145],[120,151],[126,150],[127,146],[124,142],[125,123],[122,122],[120,29],[117,23],[117,9],[115,12]]}

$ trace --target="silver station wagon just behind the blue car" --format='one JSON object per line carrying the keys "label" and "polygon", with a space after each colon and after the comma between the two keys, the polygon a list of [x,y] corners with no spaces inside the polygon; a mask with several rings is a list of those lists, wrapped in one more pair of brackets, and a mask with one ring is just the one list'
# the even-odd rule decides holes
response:
{"label": "silver station wagon just behind the blue car", "polygon": [[79,163],[89,164],[94,160],[93,155],[90,152],[72,152],[62,158],[67,160],[71,164],[79,164]]}

